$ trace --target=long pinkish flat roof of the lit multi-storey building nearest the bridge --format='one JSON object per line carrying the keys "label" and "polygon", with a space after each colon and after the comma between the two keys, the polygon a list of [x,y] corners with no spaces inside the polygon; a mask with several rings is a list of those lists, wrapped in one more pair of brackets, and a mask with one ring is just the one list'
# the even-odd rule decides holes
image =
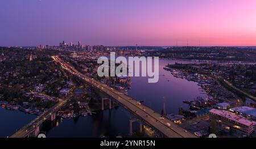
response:
{"label": "long pinkish flat roof of the lit multi-storey building nearest the bridge", "polygon": [[235,114],[232,114],[226,110],[217,110],[217,109],[211,109],[210,113],[217,114],[218,116],[228,118],[229,120],[238,122],[242,125],[251,126],[253,125],[253,121],[247,120],[245,117],[237,116]]}

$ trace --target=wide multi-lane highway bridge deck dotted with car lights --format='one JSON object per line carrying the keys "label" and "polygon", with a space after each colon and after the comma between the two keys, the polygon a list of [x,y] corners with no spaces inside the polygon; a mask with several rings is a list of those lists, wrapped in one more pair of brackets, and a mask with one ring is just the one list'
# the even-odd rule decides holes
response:
{"label": "wide multi-lane highway bridge deck dotted with car lights", "polygon": [[[136,100],[125,95],[124,93],[119,92],[114,88],[107,86],[106,84],[98,82],[93,78],[89,78],[88,76],[81,74],[73,66],[69,65],[68,63],[65,63],[61,58],[53,57],[53,59],[55,59],[56,62],[59,62],[64,69],[68,70],[73,75],[78,76],[79,78],[85,80],[90,85],[98,88],[98,90],[103,91],[108,95],[112,96],[115,100],[121,103],[125,108],[133,111],[134,114],[137,114],[138,117],[141,117],[145,122],[155,127],[155,129],[159,130],[167,137],[172,137],[172,138],[196,137],[195,135],[189,133],[188,131],[184,130],[180,126],[174,124],[174,122],[168,120],[167,118],[162,118],[162,116],[159,113],[155,112],[151,108],[146,107],[146,105],[142,105],[142,104],[139,105],[137,104]],[[167,124],[171,124],[171,126],[168,126]]]}

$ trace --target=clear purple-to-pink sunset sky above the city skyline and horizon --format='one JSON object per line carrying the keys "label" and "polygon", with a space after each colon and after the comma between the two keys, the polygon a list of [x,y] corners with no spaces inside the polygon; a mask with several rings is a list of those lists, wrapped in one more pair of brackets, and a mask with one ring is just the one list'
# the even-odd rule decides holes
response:
{"label": "clear purple-to-pink sunset sky above the city skyline and horizon", "polygon": [[0,46],[256,45],[255,0],[1,0]]}

